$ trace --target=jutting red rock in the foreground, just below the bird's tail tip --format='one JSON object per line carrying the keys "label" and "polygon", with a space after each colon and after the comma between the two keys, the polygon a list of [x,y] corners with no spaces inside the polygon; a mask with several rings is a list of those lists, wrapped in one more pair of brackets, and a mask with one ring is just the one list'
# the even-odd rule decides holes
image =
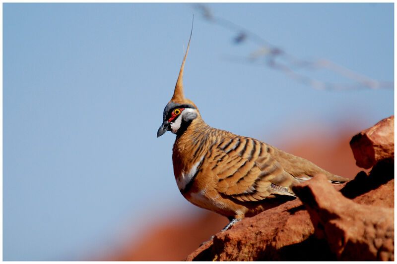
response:
{"label": "jutting red rock in the foreground, just below the bird's tail tip", "polygon": [[317,238],[338,260],[394,261],[394,210],[343,197],[325,175],[293,187],[310,213]]}

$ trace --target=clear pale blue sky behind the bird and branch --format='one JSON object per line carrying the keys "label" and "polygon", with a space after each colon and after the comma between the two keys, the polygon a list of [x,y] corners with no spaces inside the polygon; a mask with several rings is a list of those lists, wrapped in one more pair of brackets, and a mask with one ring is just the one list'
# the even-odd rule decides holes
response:
{"label": "clear pale blue sky behind the bird and branch", "polygon": [[[393,3],[207,7],[298,58],[394,81]],[[4,260],[78,260],[191,210],[173,176],[175,136],[156,132],[193,13],[185,95],[209,125],[278,146],[307,124],[364,129],[394,114],[393,89],[320,91],[228,60],[259,46],[234,43],[238,32],[191,4],[3,3]]]}

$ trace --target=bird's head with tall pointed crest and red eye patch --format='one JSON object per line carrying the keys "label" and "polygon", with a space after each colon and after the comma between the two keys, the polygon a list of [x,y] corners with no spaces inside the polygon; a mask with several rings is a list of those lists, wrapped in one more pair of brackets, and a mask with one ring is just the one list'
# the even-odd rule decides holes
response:
{"label": "bird's head with tall pointed crest and red eye patch", "polygon": [[[193,27],[192,27],[193,30]],[[188,48],[186,50],[185,56],[182,61],[181,70],[179,71],[179,76],[177,84],[175,85],[174,95],[171,101],[165,106],[163,113],[163,124],[157,131],[157,137],[160,137],[167,131],[171,131],[174,134],[178,134],[185,130],[189,124],[197,117],[200,116],[197,106],[185,98],[183,93],[183,69],[185,66],[186,56],[189,52],[190,40],[192,39],[192,32],[190,33],[190,39]]]}

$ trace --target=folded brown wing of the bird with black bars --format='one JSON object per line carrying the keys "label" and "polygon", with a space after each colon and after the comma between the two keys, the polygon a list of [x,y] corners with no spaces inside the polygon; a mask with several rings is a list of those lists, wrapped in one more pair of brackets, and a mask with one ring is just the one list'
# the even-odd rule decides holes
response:
{"label": "folded brown wing of the bird with black bars", "polygon": [[218,192],[239,201],[294,196],[290,186],[298,181],[272,157],[272,151],[270,145],[248,137],[222,140],[213,165]]}

